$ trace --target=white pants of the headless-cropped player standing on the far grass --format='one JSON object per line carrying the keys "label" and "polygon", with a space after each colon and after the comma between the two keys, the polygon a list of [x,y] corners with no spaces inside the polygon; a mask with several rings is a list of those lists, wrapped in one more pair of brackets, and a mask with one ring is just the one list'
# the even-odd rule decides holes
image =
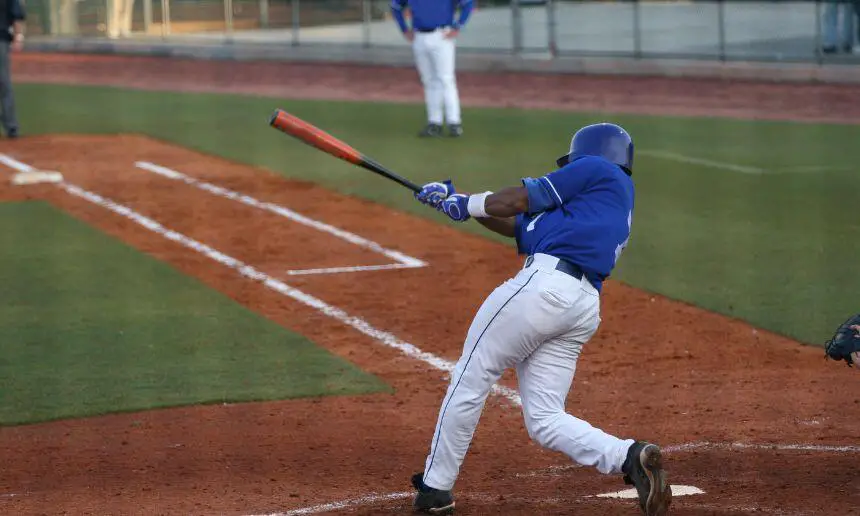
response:
{"label": "white pants of the headless-cropped player standing on the far grass", "polygon": [[[424,102],[427,121],[442,125],[460,124],[460,94],[455,76],[455,38],[446,38],[448,29],[433,32],[415,32],[412,52],[421,84],[424,85]],[[444,107],[444,117],[443,117]]]}

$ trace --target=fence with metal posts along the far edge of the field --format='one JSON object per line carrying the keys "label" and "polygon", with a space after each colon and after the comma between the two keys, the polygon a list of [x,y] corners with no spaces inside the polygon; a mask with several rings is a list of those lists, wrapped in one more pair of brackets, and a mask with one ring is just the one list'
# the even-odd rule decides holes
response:
{"label": "fence with metal posts along the far edge of the field", "polygon": [[[406,45],[390,18],[389,0],[28,0],[29,25],[37,20],[46,36],[126,37],[127,30],[116,36],[117,30],[111,29],[121,23],[115,13],[123,2],[134,3],[132,26],[126,28],[132,38],[363,48]],[[860,63],[860,0],[476,3],[458,40],[458,48],[466,51],[547,58]],[[845,17],[852,17],[853,28]],[[40,31],[37,27],[30,32]],[[823,52],[828,43],[838,51]],[[848,52],[848,47],[856,48]]]}

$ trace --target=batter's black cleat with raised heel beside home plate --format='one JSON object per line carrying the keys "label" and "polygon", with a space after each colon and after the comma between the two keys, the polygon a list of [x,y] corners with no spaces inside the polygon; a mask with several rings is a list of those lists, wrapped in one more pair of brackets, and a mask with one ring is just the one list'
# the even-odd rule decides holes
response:
{"label": "batter's black cleat with raised heel beside home plate", "polygon": [[657,445],[636,441],[627,450],[621,471],[624,482],[636,487],[639,507],[645,516],[664,516],[669,512],[672,488],[666,481],[663,455]]}

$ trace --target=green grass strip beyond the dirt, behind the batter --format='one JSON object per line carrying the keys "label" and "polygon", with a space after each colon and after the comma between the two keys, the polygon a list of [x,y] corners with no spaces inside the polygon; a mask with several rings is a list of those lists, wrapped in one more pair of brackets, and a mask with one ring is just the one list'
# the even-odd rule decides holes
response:
{"label": "green grass strip beyond the dirt, behind the batter", "polygon": [[[755,176],[640,154],[633,237],[615,277],[811,343],[858,309],[860,126],[466,107],[462,140],[424,141],[414,137],[420,105],[43,85],[16,93],[28,133],[148,134],[442,224],[401,187],[269,128],[269,114],[282,107],[415,182],[451,177],[463,190],[550,171],[574,129],[603,119],[625,125],[642,151],[774,172],[841,167]],[[477,224],[458,227],[496,238]]]}

